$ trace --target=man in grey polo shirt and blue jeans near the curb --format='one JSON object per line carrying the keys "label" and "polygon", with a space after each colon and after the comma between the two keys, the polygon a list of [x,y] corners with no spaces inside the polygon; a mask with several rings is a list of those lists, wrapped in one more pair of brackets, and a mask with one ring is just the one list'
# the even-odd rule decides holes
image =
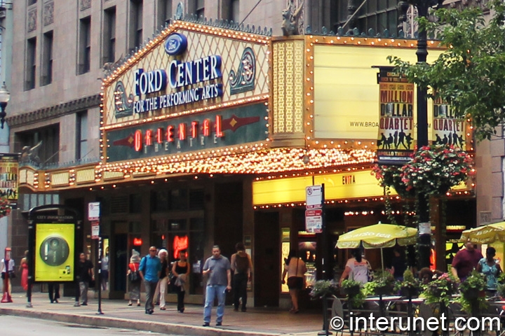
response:
{"label": "man in grey polo shirt and blue jeans near the curb", "polygon": [[203,326],[210,325],[210,314],[217,296],[216,326],[222,325],[224,315],[224,299],[227,290],[231,290],[231,271],[228,258],[221,255],[219,246],[213,246],[213,256],[208,258],[203,265],[203,275],[208,275],[206,288],[206,304],[203,308]]}

